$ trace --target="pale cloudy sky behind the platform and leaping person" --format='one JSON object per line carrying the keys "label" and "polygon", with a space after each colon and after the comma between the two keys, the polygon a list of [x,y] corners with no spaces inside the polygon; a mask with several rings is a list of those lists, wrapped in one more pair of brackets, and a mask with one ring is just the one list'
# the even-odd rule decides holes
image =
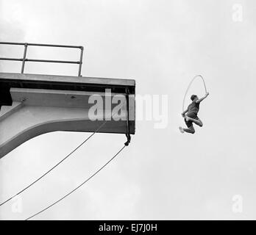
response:
{"label": "pale cloudy sky behind the platform and leaping person", "polygon": [[[234,4],[243,21],[232,19]],[[0,40],[85,46],[83,76],[136,80],[136,94],[168,95],[168,126],[138,121],[132,143],[82,189],[38,220],[256,219],[255,1],[14,1],[0,0]],[[22,48],[0,48],[21,57]],[[78,51],[29,48],[28,57],[74,59]],[[2,72],[20,63],[2,62]],[[26,64],[26,73],[77,75],[77,65]],[[205,126],[180,134],[188,83],[202,74],[210,96]],[[193,89],[203,94],[200,82]],[[192,93],[193,90],[191,90]],[[12,196],[73,150],[88,133],[55,132],[0,159],[0,201]],[[124,144],[120,134],[96,134],[22,194],[0,218],[24,220],[88,178]],[[234,195],[243,212],[232,211]]]}

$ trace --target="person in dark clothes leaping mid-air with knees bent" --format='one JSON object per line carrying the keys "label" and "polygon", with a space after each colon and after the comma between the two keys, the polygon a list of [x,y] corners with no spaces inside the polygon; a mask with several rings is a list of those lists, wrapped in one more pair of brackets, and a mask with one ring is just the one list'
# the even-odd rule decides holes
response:
{"label": "person in dark clothes leaping mid-air with knees bent", "polygon": [[202,120],[197,117],[197,113],[199,112],[199,106],[200,103],[207,98],[209,93],[206,93],[204,97],[198,98],[197,95],[191,95],[191,101],[192,103],[188,105],[188,109],[186,109],[184,112],[182,112],[182,117],[184,117],[185,123],[188,126],[187,129],[182,128],[179,126],[179,131],[181,133],[187,132],[194,134],[196,131],[193,128],[193,123],[195,123],[198,126],[203,126]]}

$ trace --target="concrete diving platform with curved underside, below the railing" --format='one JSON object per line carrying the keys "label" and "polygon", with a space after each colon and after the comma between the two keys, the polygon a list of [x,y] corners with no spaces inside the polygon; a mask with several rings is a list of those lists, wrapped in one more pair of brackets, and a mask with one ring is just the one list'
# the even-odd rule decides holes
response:
{"label": "concrete diving platform with curved underside, below the railing", "polygon": [[96,130],[135,134],[135,80],[0,73],[0,158],[40,134]]}

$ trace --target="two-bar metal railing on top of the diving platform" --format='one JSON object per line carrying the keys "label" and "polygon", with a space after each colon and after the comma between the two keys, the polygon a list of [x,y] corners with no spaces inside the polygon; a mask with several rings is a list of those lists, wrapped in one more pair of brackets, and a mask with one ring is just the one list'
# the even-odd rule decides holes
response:
{"label": "two-bar metal railing on top of the diving platform", "polygon": [[[13,61],[21,61],[21,73],[24,73],[25,62],[51,62],[51,63],[65,63],[65,64],[78,64],[78,76],[81,76],[82,70],[82,54],[84,51],[83,46],[68,46],[68,45],[51,45],[51,44],[38,44],[38,43],[7,43],[7,42],[0,42],[0,45],[18,45],[24,46],[24,54],[23,58],[5,58],[0,57],[0,60],[13,60]],[[68,61],[68,60],[50,60],[50,59],[27,59],[26,58],[26,51],[28,46],[46,46],[46,47],[62,47],[62,48],[79,48],[80,52],[80,59],[79,61]]]}

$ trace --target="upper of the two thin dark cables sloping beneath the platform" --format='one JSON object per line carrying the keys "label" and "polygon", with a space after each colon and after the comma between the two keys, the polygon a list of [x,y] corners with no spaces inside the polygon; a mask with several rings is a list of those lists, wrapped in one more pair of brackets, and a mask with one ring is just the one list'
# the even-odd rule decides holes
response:
{"label": "upper of the two thin dark cables sloping beneath the platform", "polygon": [[64,162],[65,159],[68,158],[68,156],[71,156],[72,153],[74,153],[75,151],[77,151],[77,149],[79,149],[82,145],[85,144],[85,142],[87,142],[90,137],[93,137],[94,134],[96,134],[100,129],[102,129],[102,127],[107,123],[107,120],[104,121],[104,123],[102,123],[102,125],[100,125],[98,127],[98,129],[96,129],[96,131],[93,132],[93,134],[90,134],[90,136],[84,140],[80,145],[78,145],[77,148],[75,148],[73,151],[71,151],[71,153],[69,153],[67,156],[65,156],[64,159],[62,159],[60,162],[58,162],[57,164],[54,165],[54,167],[51,167],[50,170],[46,171],[46,173],[44,173],[42,176],[40,176],[38,179],[36,179],[35,181],[33,181],[31,184],[29,184],[27,187],[25,187],[24,189],[22,189],[20,192],[16,193],[13,197],[5,200],[3,203],[0,204],[0,206],[3,206],[5,203],[7,203],[8,201],[12,200],[13,198],[15,198],[16,196],[20,195],[22,192],[24,192],[26,189],[28,189],[29,187],[32,187],[33,184],[35,184],[36,182],[40,181],[41,178],[43,178],[44,176],[46,176],[48,173],[51,172],[51,170],[54,170],[54,168],[56,168],[60,163]]}

